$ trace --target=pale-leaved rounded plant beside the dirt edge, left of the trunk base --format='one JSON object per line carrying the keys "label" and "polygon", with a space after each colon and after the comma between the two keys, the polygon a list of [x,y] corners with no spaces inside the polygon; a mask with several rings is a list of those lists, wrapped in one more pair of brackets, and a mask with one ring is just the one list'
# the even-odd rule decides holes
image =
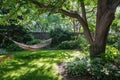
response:
{"label": "pale-leaved rounded plant beside the dirt edge, left of the trunk base", "polygon": [[67,64],[67,73],[72,76],[80,76],[83,77],[88,74],[87,72],[87,60],[86,58],[77,57],[74,61],[70,61]]}

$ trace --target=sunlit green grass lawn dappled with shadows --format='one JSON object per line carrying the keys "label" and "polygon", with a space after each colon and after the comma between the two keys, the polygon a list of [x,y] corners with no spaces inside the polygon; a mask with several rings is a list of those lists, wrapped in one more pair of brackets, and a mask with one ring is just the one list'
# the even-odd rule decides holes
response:
{"label": "sunlit green grass lawn dappled with shadows", "polygon": [[62,80],[57,65],[77,55],[81,54],[74,50],[22,51],[0,55],[3,58],[0,80]]}

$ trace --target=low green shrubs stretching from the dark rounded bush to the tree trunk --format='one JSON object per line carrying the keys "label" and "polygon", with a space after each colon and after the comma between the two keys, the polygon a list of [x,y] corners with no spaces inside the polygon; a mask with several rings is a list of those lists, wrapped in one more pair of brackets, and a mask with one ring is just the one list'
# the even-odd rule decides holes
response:
{"label": "low green shrubs stretching from the dark rounded bush to the tree trunk", "polygon": [[[74,37],[74,38],[73,38]],[[58,49],[81,49],[85,51],[88,48],[88,43],[82,35],[72,36],[71,41],[61,42],[57,48]]]}

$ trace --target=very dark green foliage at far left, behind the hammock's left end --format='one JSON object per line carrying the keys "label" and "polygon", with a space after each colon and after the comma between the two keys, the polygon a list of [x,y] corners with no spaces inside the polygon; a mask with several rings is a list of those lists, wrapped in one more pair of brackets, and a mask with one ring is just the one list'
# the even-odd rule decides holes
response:
{"label": "very dark green foliage at far left, behind the hammock's left end", "polygon": [[[1,25],[0,26],[0,43],[2,44],[2,47],[6,48],[9,45],[9,48],[13,46],[13,42],[9,39],[13,39],[18,42],[26,43],[27,41],[30,41],[33,39],[33,37],[28,34],[27,30],[24,29],[20,25]],[[13,45],[11,45],[13,44]]]}

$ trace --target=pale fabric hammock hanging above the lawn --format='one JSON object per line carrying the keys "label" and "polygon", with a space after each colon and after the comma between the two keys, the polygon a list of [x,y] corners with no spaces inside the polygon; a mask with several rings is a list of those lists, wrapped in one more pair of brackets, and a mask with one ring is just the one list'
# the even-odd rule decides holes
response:
{"label": "pale fabric hammock hanging above the lawn", "polygon": [[41,48],[49,45],[52,41],[52,38],[43,41],[42,43],[39,44],[35,44],[35,45],[26,45],[23,43],[19,43],[17,41],[12,40],[16,45],[18,45],[20,48],[24,49],[24,50],[29,50],[29,51],[36,51],[36,50],[40,50]]}

